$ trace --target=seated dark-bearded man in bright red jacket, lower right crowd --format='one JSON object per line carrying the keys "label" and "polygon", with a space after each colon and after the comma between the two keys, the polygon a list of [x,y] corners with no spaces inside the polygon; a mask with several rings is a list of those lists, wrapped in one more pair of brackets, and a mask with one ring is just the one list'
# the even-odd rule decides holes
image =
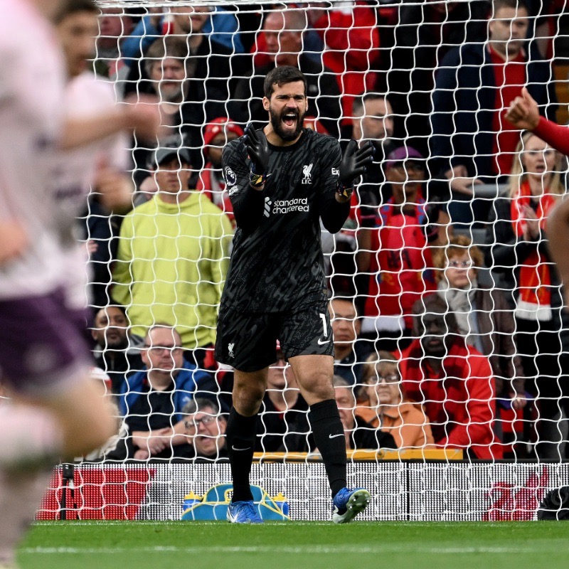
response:
{"label": "seated dark-bearded man in bright red jacket, lower right crowd", "polygon": [[435,444],[477,459],[502,457],[494,435],[494,378],[486,356],[468,346],[437,294],[415,303],[416,339],[400,354],[403,389],[423,405]]}

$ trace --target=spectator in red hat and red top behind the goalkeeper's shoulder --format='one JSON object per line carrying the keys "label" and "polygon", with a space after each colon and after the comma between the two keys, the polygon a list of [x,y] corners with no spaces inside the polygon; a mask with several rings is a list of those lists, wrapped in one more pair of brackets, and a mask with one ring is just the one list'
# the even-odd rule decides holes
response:
{"label": "spectator in red hat and red top behind the goalkeeper's shoulder", "polygon": [[203,154],[206,166],[200,172],[196,190],[203,191],[210,200],[223,210],[235,227],[233,206],[225,189],[221,171],[221,152],[228,142],[242,137],[243,129],[228,117],[218,117],[206,124],[203,134]]}

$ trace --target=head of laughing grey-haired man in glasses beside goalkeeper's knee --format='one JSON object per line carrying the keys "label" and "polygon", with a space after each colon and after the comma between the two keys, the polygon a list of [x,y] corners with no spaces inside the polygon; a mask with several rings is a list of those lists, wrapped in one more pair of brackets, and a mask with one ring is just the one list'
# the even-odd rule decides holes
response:
{"label": "head of laughing grey-haired man in glasses beside goalkeeper's knee", "polygon": [[227,419],[220,414],[219,406],[211,399],[194,398],[182,410],[184,429],[191,447],[186,447],[184,458],[195,462],[213,462],[227,459],[225,429]]}

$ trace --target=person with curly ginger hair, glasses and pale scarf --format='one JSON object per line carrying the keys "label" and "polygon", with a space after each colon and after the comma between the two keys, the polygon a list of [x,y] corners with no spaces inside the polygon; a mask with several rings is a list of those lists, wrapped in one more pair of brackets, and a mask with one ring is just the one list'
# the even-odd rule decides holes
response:
{"label": "person with curly ginger hair, glasses and pale scarf", "polygon": [[434,262],[437,294],[448,303],[467,344],[488,356],[496,396],[516,410],[525,407],[525,377],[514,344],[514,317],[504,292],[478,282],[482,252],[469,238],[458,235],[445,250],[436,252]]}

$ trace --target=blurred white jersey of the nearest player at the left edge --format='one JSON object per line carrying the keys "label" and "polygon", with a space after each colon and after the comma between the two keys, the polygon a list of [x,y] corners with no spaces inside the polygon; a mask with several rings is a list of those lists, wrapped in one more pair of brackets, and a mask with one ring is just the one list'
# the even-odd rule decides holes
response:
{"label": "blurred white jersey of the nearest player at the left edge", "polygon": [[50,25],[25,0],[0,18],[0,221],[17,219],[30,245],[0,267],[0,299],[46,294],[61,282],[51,168],[63,124],[65,74]]}

